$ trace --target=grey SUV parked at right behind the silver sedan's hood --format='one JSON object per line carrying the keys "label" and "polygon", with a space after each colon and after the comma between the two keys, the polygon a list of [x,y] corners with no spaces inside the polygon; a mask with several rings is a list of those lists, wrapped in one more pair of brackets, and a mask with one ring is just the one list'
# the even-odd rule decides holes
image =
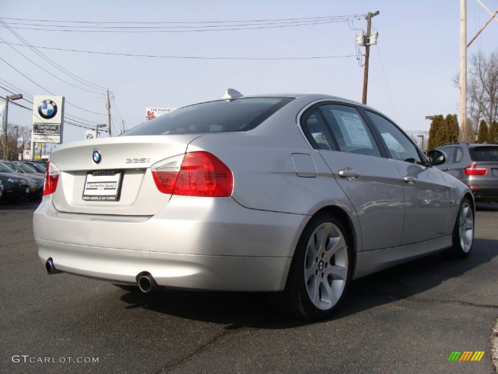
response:
{"label": "grey SUV parked at right behind the silver sedan's hood", "polygon": [[429,158],[465,183],[476,201],[498,202],[498,144],[447,144],[429,152]]}

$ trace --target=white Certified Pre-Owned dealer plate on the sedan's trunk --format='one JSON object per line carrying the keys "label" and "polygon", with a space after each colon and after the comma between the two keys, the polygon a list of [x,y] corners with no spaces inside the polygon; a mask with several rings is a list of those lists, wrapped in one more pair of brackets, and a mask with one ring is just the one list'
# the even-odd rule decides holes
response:
{"label": "white Certified Pre-Owned dealer plate on the sedan's trunk", "polygon": [[121,193],[123,172],[98,170],[87,173],[83,200],[118,201]]}

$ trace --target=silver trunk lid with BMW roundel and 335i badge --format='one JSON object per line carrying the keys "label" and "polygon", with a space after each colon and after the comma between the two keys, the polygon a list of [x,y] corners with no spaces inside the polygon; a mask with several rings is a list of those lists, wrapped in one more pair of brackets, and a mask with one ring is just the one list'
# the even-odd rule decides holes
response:
{"label": "silver trunk lid with BMW roundel and 335i badge", "polygon": [[128,136],[74,142],[50,156],[59,170],[51,194],[59,211],[154,215],[171,195],[155,186],[150,166],[184,154],[199,134]]}

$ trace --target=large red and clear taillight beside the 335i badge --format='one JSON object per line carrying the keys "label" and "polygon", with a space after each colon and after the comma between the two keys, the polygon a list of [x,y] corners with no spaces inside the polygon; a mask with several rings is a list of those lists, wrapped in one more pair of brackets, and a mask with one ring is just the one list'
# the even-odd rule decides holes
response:
{"label": "large red and clear taillight beside the 335i badge", "polygon": [[208,152],[175,156],[154,164],[151,170],[157,189],[163,193],[226,197],[234,187],[230,169]]}

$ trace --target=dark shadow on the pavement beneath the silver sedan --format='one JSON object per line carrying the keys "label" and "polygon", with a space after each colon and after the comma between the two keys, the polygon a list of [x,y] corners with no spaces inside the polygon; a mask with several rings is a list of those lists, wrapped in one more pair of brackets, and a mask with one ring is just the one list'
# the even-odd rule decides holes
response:
{"label": "dark shadow on the pavement beneath the silver sedan", "polygon": [[[355,280],[329,321],[415,296],[497,256],[498,240],[476,239],[467,259],[446,260],[436,253]],[[149,294],[126,292],[121,300],[127,304],[126,308],[146,308],[180,318],[222,324],[227,330],[242,327],[285,329],[309,324],[277,314],[266,296],[264,293],[160,289]]]}

